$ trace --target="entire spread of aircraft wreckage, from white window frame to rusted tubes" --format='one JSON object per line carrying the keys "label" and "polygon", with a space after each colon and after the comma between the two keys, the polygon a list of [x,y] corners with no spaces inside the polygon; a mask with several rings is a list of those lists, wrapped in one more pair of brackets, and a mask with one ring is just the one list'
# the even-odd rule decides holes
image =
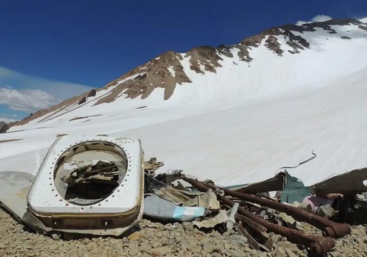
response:
{"label": "entire spread of aircraft wreckage, from white window frame to rusted tubes", "polygon": [[[314,157],[316,154],[312,153]],[[302,164],[302,163],[301,163]],[[182,170],[155,174],[163,165],[144,162],[140,141],[108,136],[62,136],[50,146],[36,176],[0,172],[0,206],[35,232],[121,235],[143,214],[164,221],[192,221],[198,228],[236,229],[250,248],[270,251],[273,232],[306,246],[331,251],[365,223],[367,168],[305,187],[286,170],[253,184],[219,187]],[[293,168],[293,167],[288,167]],[[346,182],[350,183],[346,183]],[[269,191],[277,191],[271,197]],[[298,221],[321,230],[307,234]]]}

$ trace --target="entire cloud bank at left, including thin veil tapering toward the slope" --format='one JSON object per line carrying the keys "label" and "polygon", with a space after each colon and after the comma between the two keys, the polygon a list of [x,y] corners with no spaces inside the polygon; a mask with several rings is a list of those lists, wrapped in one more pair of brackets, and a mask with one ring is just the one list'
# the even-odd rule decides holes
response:
{"label": "entire cloud bank at left, including thin veil tapering toward the slope", "polygon": [[0,66],[0,104],[11,110],[35,112],[90,90],[85,85],[29,76]]}

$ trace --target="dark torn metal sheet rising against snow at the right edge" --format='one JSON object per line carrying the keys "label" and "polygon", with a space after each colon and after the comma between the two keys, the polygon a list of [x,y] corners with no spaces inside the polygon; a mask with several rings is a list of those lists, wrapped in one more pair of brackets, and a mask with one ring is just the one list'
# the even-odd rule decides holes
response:
{"label": "dark torn metal sheet rising against snow at the right edge", "polygon": [[367,168],[354,169],[344,174],[323,180],[311,187],[316,196],[325,197],[329,193],[354,196],[367,192]]}

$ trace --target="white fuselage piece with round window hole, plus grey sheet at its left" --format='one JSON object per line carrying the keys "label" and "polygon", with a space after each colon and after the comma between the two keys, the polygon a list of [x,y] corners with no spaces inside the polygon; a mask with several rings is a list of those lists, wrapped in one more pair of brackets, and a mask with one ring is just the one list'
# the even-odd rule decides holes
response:
{"label": "white fuselage piece with round window hole, plus grey sheet at its left", "polygon": [[143,214],[139,140],[63,136],[35,178],[0,172],[1,205],[35,231],[119,235]]}

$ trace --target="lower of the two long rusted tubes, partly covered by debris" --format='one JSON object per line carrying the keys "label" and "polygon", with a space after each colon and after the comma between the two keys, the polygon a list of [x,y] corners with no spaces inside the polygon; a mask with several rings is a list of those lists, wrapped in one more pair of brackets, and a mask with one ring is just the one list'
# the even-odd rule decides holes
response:
{"label": "lower of the two long rusted tubes, partly covered by debris", "polygon": [[[187,177],[182,177],[182,179],[190,183],[194,187],[198,188],[200,191],[206,192],[209,189],[209,187],[206,186],[207,184],[204,184],[200,181],[197,181],[191,178],[187,178]],[[235,204],[235,202],[233,202],[226,196],[220,196],[220,200],[223,203],[229,205],[230,207],[232,207]],[[321,236],[311,235],[311,234],[307,234],[307,233],[304,233],[302,231],[298,231],[295,229],[290,229],[290,228],[286,228],[283,226],[279,226],[277,224],[271,223],[267,220],[264,220],[256,216],[252,212],[240,206],[238,207],[237,211],[241,213],[242,215],[257,222],[258,224],[264,226],[268,231],[274,232],[275,234],[280,234],[282,236],[287,237],[289,240],[293,242],[309,247],[310,253],[313,255],[322,255],[324,253],[327,253],[335,246],[335,242],[331,237],[321,237]]]}

